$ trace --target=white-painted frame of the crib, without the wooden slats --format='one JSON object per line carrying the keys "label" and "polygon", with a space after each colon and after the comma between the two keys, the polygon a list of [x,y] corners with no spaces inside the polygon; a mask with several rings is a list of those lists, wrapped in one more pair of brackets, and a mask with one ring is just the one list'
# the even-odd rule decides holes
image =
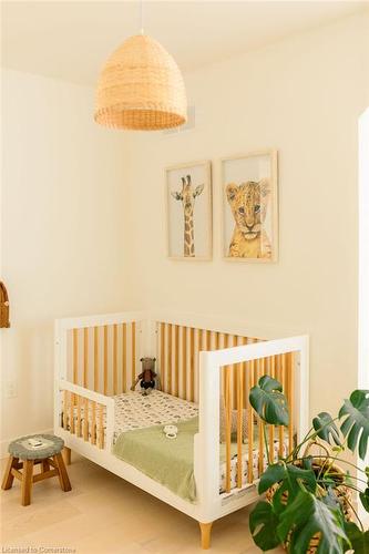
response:
{"label": "white-painted frame of the crib, without the wooden slats", "polygon": [[[236,346],[222,350],[199,352],[199,429],[194,440],[194,474],[196,481],[196,503],[187,502],[156,481],[141,473],[132,465],[112,454],[114,433],[114,400],[110,397],[76,386],[66,380],[66,332],[69,329],[85,328],[142,321],[140,356],[156,352],[156,322],[168,322],[197,327],[214,331],[235,334],[266,339],[247,346]],[[133,311],[59,319],[55,321],[55,373],[54,373],[54,433],[65,445],[105,468],[120,478],[166,502],[197,522],[211,523],[258,499],[257,482],[230,494],[219,494],[219,370],[226,365],[256,360],[266,356],[298,352],[299,363],[295,375],[295,406],[299,407],[297,438],[308,430],[309,408],[309,339],[307,335],[288,338],[278,337],[275,329],[245,328],[242,322],[226,321],[224,318],[194,315],[173,315],[168,312]],[[140,358],[139,356],[139,358]],[[100,449],[90,442],[71,434],[61,427],[60,391],[68,390],[106,407],[106,440]]]}

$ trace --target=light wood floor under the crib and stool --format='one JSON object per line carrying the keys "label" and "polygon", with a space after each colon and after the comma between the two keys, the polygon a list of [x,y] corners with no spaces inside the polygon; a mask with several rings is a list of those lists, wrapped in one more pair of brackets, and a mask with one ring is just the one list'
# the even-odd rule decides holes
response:
{"label": "light wood floor under the crib and stool", "polygon": [[[0,468],[2,473],[4,460]],[[10,491],[1,491],[2,546],[68,547],[76,554],[204,552],[194,520],[76,455],[68,471],[71,492],[48,479],[34,485],[27,507],[20,505],[17,480]],[[260,552],[249,535],[247,509],[214,524],[209,552]]]}

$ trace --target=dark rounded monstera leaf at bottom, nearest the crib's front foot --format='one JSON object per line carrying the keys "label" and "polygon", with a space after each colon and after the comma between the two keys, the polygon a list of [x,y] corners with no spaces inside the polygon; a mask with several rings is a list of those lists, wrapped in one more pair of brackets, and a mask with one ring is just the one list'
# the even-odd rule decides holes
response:
{"label": "dark rounded monstera leaf at bottom, nearest the crib's front foot", "polygon": [[269,551],[280,544],[277,535],[278,516],[269,502],[258,502],[249,514],[249,529],[255,544],[263,551]]}

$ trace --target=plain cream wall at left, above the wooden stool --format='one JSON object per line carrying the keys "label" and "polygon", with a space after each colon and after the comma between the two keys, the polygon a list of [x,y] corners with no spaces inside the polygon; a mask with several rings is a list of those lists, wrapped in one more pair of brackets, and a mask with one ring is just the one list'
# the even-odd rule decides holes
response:
{"label": "plain cream wall at left, above the wooden stool", "polygon": [[3,442],[52,428],[54,318],[125,308],[123,142],[92,111],[92,89],[2,73]]}

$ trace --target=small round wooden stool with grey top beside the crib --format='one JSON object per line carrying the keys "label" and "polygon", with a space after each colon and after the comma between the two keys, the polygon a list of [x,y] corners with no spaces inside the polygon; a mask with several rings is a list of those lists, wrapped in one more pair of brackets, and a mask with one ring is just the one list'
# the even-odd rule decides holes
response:
{"label": "small round wooden stool with grey top beside the crib", "polygon": [[[29,443],[29,439],[40,440],[43,444],[34,448]],[[23,506],[31,504],[33,483],[44,479],[58,475],[62,491],[71,491],[72,486],[61,454],[63,447],[64,441],[53,434],[30,434],[11,442],[1,488],[4,491],[11,489],[14,478],[19,479]],[[41,472],[33,475],[33,466],[37,464],[41,465]]]}

